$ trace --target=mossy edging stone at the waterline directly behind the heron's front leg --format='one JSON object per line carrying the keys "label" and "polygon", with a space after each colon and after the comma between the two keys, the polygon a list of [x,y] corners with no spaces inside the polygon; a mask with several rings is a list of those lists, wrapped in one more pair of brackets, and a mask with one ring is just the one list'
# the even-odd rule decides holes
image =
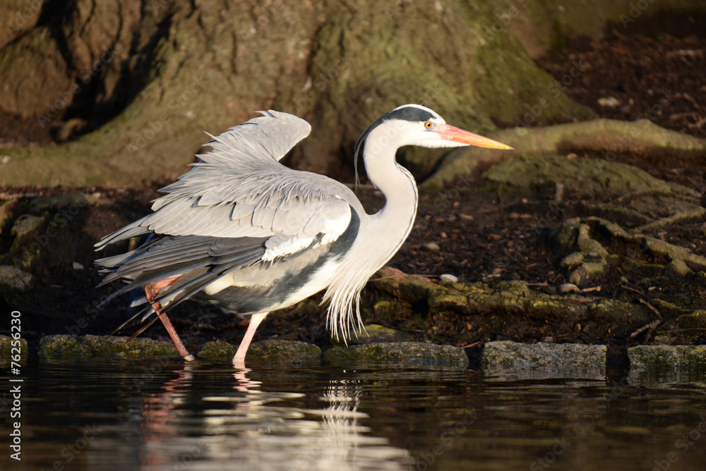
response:
{"label": "mossy edging stone at the waterline directly behind the heron's front leg", "polygon": [[[238,345],[223,341],[208,342],[199,350],[198,357],[205,360],[232,360]],[[292,364],[318,363],[321,360],[321,348],[311,343],[287,340],[265,340],[250,345],[245,355],[249,361],[288,362]]]}

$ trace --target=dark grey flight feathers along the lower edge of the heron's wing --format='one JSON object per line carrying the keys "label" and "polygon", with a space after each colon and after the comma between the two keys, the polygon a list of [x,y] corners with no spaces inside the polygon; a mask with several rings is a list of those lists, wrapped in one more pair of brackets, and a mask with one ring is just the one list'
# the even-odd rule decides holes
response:
{"label": "dark grey flight feathers along the lower edge of the heron's wing", "polygon": [[[101,305],[134,288],[183,275],[168,289],[160,290],[156,298],[169,298],[169,307],[173,307],[220,276],[260,261],[265,253],[265,240],[165,237],[131,252],[96,260],[96,264],[103,267],[102,273],[107,273],[100,286],[116,279],[128,280],[125,286],[112,293]],[[136,304],[143,302],[140,300]]]}

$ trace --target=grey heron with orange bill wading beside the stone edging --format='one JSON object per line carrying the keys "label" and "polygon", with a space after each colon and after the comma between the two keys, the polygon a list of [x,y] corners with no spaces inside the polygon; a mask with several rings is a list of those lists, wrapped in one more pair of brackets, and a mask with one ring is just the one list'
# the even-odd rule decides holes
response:
{"label": "grey heron with orange bill wading beside the stone edging", "polygon": [[[166,312],[191,298],[226,312],[249,316],[233,357],[244,359],[268,313],[325,289],[327,326],[349,337],[362,326],[360,292],[366,281],[399,250],[417,214],[417,183],[395,161],[405,145],[493,149],[511,147],[449,126],[425,106],[406,104],[384,114],[357,140],[368,178],[385,197],[367,214],[354,192],[323,175],[296,171],[280,159],[311,131],[309,123],[278,111],[253,118],[206,143],[210,152],[152,204],[152,214],[105,236],[95,247],[151,236],[140,247],[96,264],[107,274],[100,286],[127,281],[104,302],[144,290],[133,305],[144,306],[143,329],[160,319],[179,355],[193,360]],[[121,326],[121,327],[122,327]],[[121,328],[120,327],[120,328]],[[120,329],[119,328],[119,329]]]}

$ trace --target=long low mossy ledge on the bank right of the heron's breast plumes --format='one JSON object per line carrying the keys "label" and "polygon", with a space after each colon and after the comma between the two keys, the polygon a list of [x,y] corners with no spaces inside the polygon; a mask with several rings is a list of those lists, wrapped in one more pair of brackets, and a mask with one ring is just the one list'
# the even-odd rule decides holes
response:
{"label": "long low mossy ledge on the bank right of the heron's breast plumes", "polygon": [[[531,290],[523,281],[456,283],[453,286],[412,276],[382,279],[369,289],[395,296],[412,305],[426,302],[429,317],[445,314],[455,317],[459,330],[472,324],[480,339],[489,335],[510,338],[544,338],[549,332],[570,334],[572,338],[597,342],[603,338],[628,336],[652,322],[645,306],[626,300],[599,298],[585,294],[549,294]],[[411,298],[405,297],[412,293]],[[576,326],[580,325],[580,331]]]}

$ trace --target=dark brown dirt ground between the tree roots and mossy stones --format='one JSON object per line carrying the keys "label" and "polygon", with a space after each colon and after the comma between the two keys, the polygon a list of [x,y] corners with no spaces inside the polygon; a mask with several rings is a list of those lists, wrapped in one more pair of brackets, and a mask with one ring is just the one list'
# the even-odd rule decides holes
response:
{"label": "dark brown dirt ground between the tree roots and mossy stones", "polygon": [[[602,41],[578,38],[540,59],[539,63],[561,80],[569,73],[573,61],[585,63],[588,67],[573,80],[566,92],[575,101],[589,106],[598,116],[624,120],[647,117],[664,128],[706,137],[706,32],[686,37],[612,32]],[[651,110],[660,99],[668,100],[668,106],[660,106],[659,112],[653,113]],[[8,119],[0,116],[0,121],[4,121],[0,122],[0,129],[4,129],[0,143],[51,145],[47,130],[35,130],[36,135],[32,135],[31,123],[9,126]],[[13,130],[16,135],[11,135]],[[622,154],[618,161],[638,166],[657,178],[706,193],[706,165],[698,159]],[[0,188],[0,196],[53,195],[69,191],[100,193],[114,202],[111,211],[102,216],[92,214],[91,226],[80,235],[97,240],[114,230],[116,224],[125,224],[146,214],[150,200],[157,197],[155,188],[167,183],[157,182],[152,188],[128,190]],[[547,238],[563,219],[584,216],[585,213],[584,208],[572,202],[566,202],[558,210],[551,207],[551,194],[543,197],[543,191],[534,188],[522,192],[476,177],[461,179],[441,191],[421,192],[414,230],[389,265],[407,274],[429,276],[430,279],[453,274],[463,282],[522,280],[532,289],[556,293],[556,287],[566,283],[566,279],[558,269],[561,255],[554,253]],[[381,207],[381,195],[374,190],[363,190],[359,194],[369,212]],[[669,242],[690,247],[693,253],[706,256],[706,243],[699,230],[702,224],[704,221],[671,227]],[[100,276],[90,267],[92,255],[84,253],[77,257],[86,265],[85,270],[49,267],[38,271],[37,279],[44,289],[33,302],[37,312],[43,310],[45,317],[37,317],[36,323],[28,326],[30,341],[42,335],[66,333],[71,325],[67,326],[61,319],[61,312],[83,310],[95,298],[93,286],[100,281]],[[630,299],[635,294],[654,289],[640,283],[641,278],[640,273],[628,274],[613,267],[596,284],[602,287],[602,295]],[[692,298],[695,307],[706,307],[703,301],[705,283],[664,279],[658,289],[662,293]],[[369,296],[366,294],[366,300],[370,302]],[[89,325],[81,328],[81,334],[108,334],[124,317],[126,298],[121,299],[109,306],[105,316],[90,319]],[[325,345],[328,334],[323,322],[324,310],[315,306],[317,301],[315,297],[313,301],[293,308],[289,315],[270,316],[258,330],[256,340],[277,335]],[[217,338],[237,343],[246,325],[195,303],[179,307],[173,317],[177,330],[187,332],[184,334],[187,346]],[[365,321],[375,322],[376,319],[366,316]],[[238,327],[237,324],[241,325]],[[127,329],[126,333],[132,331]],[[424,332],[412,334],[419,339],[426,338]],[[437,334],[443,336],[443,332]],[[161,328],[152,328],[144,335],[165,337]]]}

